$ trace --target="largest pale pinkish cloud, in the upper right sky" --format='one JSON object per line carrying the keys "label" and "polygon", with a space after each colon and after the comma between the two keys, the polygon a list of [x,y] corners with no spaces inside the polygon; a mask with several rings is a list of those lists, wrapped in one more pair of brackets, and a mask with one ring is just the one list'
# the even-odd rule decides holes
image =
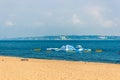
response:
{"label": "largest pale pinkish cloud, in the upper right sky", "polygon": [[93,24],[101,25],[102,27],[113,27],[118,24],[113,19],[108,19],[108,16],[105,14],[109,14],[111,11],[109,8],[103,6],[85,6],[82,11],[87,15],[91,16],[90,21]]}

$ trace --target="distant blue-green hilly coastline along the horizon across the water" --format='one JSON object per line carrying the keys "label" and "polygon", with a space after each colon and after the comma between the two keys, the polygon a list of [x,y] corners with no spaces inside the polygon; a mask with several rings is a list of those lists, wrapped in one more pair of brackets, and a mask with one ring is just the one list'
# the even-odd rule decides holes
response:
{"label": "distant blue-green hilly coastline along the horizon across the water", "polygon": [[57,36],[4,38],[4,39],[1,39],[1,40],[120,40],[120,36],[57,35]]}

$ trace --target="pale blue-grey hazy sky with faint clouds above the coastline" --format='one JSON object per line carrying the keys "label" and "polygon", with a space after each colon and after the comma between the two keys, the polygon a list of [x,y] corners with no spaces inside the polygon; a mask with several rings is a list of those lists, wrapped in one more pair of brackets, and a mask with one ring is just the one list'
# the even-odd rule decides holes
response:
{"label": "pale blue-grey hazy sky with faint clouds above the coastline", "polygon": [[120,35],[120,0],[0,0],[0,38]]}

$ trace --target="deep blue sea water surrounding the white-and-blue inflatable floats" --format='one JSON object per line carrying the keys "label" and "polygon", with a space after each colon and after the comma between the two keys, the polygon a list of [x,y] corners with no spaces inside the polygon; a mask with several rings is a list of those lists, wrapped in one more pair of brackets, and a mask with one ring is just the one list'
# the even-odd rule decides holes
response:
{"label": "deep blue sea water surrounding the white-and-blue inflatable floats", "polygon": [[[46,48],[82,45],[91,52],[55,52]],[[39,49],[41,49],[39,51]],[[102,50],[102,52],[96,52]],[[0,41],[0,56],[69,61],[120,63],[120,40],[9,40]]]}

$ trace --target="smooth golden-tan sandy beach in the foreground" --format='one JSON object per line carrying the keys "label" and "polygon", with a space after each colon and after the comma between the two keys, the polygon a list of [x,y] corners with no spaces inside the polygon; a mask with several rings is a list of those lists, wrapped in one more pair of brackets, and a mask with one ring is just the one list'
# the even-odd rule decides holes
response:
{"label": "smooth golden-tan sandy beach in the foreground", "polygon": [[120,64],[1,56],[0,80],[120,80]]}

